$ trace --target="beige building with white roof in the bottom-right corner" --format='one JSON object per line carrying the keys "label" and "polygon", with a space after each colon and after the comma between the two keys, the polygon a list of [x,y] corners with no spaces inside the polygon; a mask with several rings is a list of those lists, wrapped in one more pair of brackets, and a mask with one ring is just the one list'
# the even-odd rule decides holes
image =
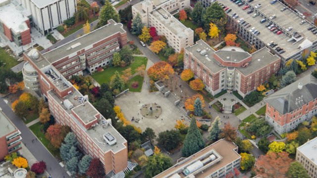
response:
{"label": "beige building with white roof in the bottom-right corner", "polygon": [[317,178],[317,137],[307,141],[296,150],[296,161],[300,162],[311,178]]}

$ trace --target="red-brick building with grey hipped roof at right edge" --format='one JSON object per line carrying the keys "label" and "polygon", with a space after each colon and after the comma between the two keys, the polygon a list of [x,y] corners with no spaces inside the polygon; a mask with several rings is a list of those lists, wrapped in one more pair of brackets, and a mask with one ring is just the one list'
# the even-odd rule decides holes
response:
{"label": "red-brick building with grey hipped roof at right edge", "polygon": [[278,134],[289,132],[317,114],[317,79],[307,75],[265,101],[265,120]]}

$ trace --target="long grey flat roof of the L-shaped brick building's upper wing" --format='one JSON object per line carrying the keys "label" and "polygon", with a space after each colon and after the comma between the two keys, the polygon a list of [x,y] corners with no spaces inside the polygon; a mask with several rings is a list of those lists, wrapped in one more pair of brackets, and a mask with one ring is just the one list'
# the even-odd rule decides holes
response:
{"label": "long grey flat roof of the L-shaped brick building's upper wing", "polygon": [[81,36],[71,42],[68,42],[64,45],[58,46],[53,50],[50,50],[43,54],[43,56],[50,62],[53,63],[61,58],[66,56],[74,56],[77,55],[77,51],[81,49],[92,48],[93,44],[112,36],[116,33],[125,33],[126,31],[123,29],[123,25],[121,23],[116,23],[112,19],[108,20],[108,24],[94,30],[84,36]]}

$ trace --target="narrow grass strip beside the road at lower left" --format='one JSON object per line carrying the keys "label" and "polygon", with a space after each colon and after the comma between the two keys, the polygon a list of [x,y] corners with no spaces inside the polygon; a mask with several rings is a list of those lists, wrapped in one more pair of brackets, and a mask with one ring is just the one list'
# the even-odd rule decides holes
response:
{"label": "narrow grass strip beside the road at lower left", "polygon": [[43,143],[43,145],[53,154],[54,157],[58,157],[60,159],[59,150],[53,150],[49,147],[50,141],[45,138],[45,134],[41,132],[42,125],[41,123],[36,123],[29,127],[29,129],[33,132],[33,134],[38,137],[38,139]]}

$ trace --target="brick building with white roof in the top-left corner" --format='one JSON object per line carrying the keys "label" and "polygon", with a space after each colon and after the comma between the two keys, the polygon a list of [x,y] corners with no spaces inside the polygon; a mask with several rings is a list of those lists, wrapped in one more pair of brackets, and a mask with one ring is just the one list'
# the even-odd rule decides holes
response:
{"label": "brick building with white roof in the top-left corner", "polygon": [[0,1],[0,33],[17,46],[31,43],[31,13],[11,0]]}

